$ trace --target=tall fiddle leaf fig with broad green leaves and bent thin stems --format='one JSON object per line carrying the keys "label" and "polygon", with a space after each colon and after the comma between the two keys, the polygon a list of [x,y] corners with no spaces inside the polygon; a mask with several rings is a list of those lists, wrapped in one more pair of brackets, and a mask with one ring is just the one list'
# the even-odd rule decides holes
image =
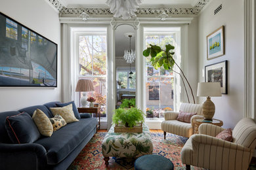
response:
{"label": "tall fiddle leaf fig with broad green leaves and bent thin stems", "polygon": [[[175,59],[173,58],[173,55],[175,54],[175,52],[173,51],[174,49],[175,49],[175,46],[172,46],[171,44],[166,44],[165,49],[161,49],[160,46],[150,44],[150,46],[148,48],[146,48],[146,50],[143,51],[143,56],[145,56],[145,57],[151,56],[150,62],[151,62],[151,65],[155,69],[158,69],[159,67],[163,67],[165,70],[172,70],[173,72],[180,75],[181,80],[184,85],[184,88],[185,88],[185,91],[186,91],[188,103],[190,103],[190,99],[188,97],[188,92],[186,90],[186,86],[185,86],[185,83],[183,80],[183,77],[184,77],[184,79],[186,80],[186,82],[190,88],[190,91],[192,93],[194,103],[196,103],[195,99],[194,99],[194,94],[193,94],[192,88],[188,82],[188,79],[184,75],[181,67],[179,67],[179,65],[175,62]],[[179,68],[181,73],[173,70],[174,65],[177,65],[177,67]]]}

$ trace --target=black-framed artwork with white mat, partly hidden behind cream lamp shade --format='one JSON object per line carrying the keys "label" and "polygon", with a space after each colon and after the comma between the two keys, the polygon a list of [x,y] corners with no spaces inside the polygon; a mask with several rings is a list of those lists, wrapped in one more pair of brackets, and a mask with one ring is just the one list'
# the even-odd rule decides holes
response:
{"label": "black-framed artwork with white mat, partly hidden behind cream lamp shade", "polygon": [[205,66],[205,82],[221,82],[221,93],[227,94],[227,61]]}

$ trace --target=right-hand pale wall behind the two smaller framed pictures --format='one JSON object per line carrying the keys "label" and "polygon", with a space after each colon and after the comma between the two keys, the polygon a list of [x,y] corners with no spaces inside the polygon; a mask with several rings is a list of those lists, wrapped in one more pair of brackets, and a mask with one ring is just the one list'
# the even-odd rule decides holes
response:
{"label": "right-hand pale wall behind the two smaller framed pictures", "polygon": [[[223,4],[223,9],[214,15],[214,10]],[[205,65],[228,60],[228,94],[212,97],[216,111],[214,118],[224,122],[223,127],[233,128],[243,118],[244,102],[244,1],[211,1],[198,16],[198,75],[204,82]],[[206,36],[224,25],[225,55],[207,61]],[[200,97],[200,103],[205,97]]]}

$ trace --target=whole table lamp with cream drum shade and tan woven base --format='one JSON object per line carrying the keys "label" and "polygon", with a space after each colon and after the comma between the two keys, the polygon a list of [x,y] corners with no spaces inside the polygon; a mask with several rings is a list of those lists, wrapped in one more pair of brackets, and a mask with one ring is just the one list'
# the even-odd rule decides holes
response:
{"label": "whole table lamp with cream drum shade and tan woven base", "polygon": [[198,97],[207,97],[203,103],[203,117],[204,120],[213,120],[215,113],[215,105],[211,101],[211,97],[221,96],[220,82],[198,82]]}

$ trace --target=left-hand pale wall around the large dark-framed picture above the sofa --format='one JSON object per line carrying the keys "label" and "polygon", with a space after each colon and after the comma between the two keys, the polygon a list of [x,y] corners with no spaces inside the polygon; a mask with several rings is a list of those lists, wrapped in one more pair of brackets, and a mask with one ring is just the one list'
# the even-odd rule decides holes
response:
{"label": "left-hand pale wall around the large dark-framed picture above the sofa", "polygon": [[0,11],[58,44],[58,88],[0,88],[0,112],[60,101],[60,21],[43,0],[1,0]]}

